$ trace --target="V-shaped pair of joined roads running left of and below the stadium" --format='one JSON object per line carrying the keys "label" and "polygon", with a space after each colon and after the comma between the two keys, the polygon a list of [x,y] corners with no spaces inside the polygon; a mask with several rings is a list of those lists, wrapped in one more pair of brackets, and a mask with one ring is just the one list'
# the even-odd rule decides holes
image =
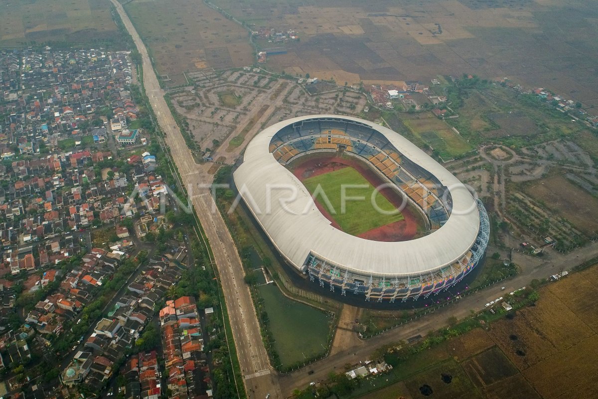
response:
{"label": "V-shaped pair of joined roads running left of and below the stadium", "polygon": [[[505,291],[500,290],[501,286],[493,286],[476,294],[463,297],[462,300],[454,304],[443,307],[402,327],[395,328],[388,333],[374,337],[367,342],[361,342],[346,351],[319,361],[309,368],[277,377],[271,372],[266,351],[261,342],[260,328],[249,291],[243,282],[243,269],[234,242],[219,212],[212,212],[212,197],[199,190],[200,185],[209,184],[211,177],[206,173],[206,167],[196,165],[178,127],[176,127],[175,120],[164,101],[164,92],[160,89],[145,45],[139,38],[135,28],[133,28],[129,17],[124,13],[122,6],[116,0],[111,1],[117,8],[124,25],[133,36],[139,53],[142,55],[146,93],[157,115],[158,123],[166,133],[166,144],[170,148],[185,187],[187,187],[187,191],[193,200],[194,209],[212,247],[249,397],[264,398],[266,394],[270,394],[270,397],[274,399],[288,396],[294,388],[303,388],[309,385],[311,381],[325,379],[330,371],[343,370],[344,365],[347,363],[367,360],[371,352],[380,345],[398,340],[407,340],[417,334],[423,335],[429,330],[446,327],[451,316],[464,318],[470,314],[471,310],[484,309],[485,303],[529,284],[532,279],[548,278],[550,275],[560,272],[563,268],[562,265],[565,265],[565,269],[569,269],[598,255],[598,243],[588,245],[569,255],[560,255],[551,251],[549,259],[545,263],[524,268],[520,275],[505,281],[502,284]],[[308,370],[313,370],[314,373],[308,375]]]}

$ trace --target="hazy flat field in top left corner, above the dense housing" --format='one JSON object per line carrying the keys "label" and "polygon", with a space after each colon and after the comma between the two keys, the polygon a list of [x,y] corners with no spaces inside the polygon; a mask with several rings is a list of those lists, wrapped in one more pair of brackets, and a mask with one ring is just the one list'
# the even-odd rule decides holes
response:
{"label": "hazy flat field in top left corner, above the dense housing", "polygon": [[109,0],[8,0],[1,6],[0,47],[121,39]]}

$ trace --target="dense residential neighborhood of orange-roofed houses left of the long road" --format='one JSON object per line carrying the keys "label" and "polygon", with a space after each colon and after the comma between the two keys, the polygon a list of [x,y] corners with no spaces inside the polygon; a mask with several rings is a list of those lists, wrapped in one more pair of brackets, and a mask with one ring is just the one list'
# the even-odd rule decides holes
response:
{"label": "dense residential neighborhood of orange-roofed houses left of the long road", "polygon": [[[0,397],[210,397],[213,308],[176,301],[191,310],[168,324],[174,347],[160,339],[158,311],[202,254],[130,52],[0,51],[0,87]],[[164,385],[166,357],[184,386]]]}

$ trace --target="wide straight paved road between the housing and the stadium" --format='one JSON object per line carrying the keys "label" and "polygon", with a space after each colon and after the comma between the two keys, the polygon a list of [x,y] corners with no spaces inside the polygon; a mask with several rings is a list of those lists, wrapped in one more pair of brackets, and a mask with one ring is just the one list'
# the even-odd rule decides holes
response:
{"label": "wide straight paved road between the housing and the stadium", "polygon": [[271,373],[272,369],[262,343],[251,295],[243,281],[244,273],[236,246],[221,215],[218,211],[213,211],[212,197],[206,193],[206,190],[200,190],[200,187],[210,184],[211,176],[206,173],[206,167],[196,165],[194,162],[166,105],[164,92],[160,89],[147,49],[139,34],[122,5],[116,0],[111,1],[142,56],[145,92],[154,109],[158,124],[166,133],[166,145],[170,148],[172,158],[212,248],[233,328],[233,338],[246,391],[251,398],[264,398],[266,394],[270,394],[273,399],[282,397],[276,375]]}

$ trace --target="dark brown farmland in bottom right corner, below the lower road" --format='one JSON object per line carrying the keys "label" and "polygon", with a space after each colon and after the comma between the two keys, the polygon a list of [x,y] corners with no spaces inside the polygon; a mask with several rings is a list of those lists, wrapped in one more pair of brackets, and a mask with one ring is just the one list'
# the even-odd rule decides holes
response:
{"label": "dark brown farmland in bottom right corner, below the lower road", "polygon": [[596,397],[596,267],[540,288],[535,306],[512,317],[408,357],[390,352],[393,370],[363,382],[350,398]]}

